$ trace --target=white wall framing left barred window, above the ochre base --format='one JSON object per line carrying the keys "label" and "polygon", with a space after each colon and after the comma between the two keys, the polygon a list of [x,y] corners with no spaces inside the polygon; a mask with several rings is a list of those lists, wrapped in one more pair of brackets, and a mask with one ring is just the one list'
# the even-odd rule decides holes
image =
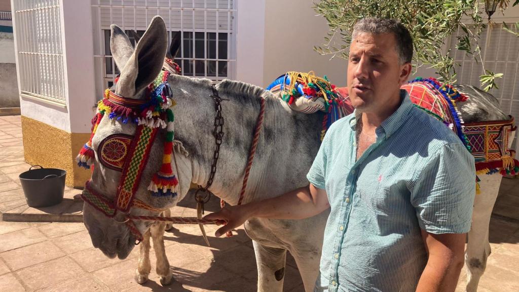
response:
{"label": "white wall framing left barred window, above the ochre base", "polygon": [[[16,0],[11,1],[12,7],[16,8],[13,3]],[[95,101],[90,1],[61,0],[60,10],[66,106],[22,96],[20,110],[23,116],[58,129],[88,133]],[[14,17],[16,14],[13,14]],[[16,35],[16,20],[13,21],[13,26],[15,40],[17,37],[23,37]]]}

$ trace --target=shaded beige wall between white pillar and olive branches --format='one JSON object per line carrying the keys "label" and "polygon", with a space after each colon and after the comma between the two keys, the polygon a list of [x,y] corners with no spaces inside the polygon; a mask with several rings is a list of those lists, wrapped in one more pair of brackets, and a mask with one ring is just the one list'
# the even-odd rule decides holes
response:
{"label": "shaded beige wall between white pillar and olive branches", "polygon": [[[337,86],[346,85],[346,61],[330,61],[313,50],[324,42],[326,20],[316,16],[310,0],[266,0],[263,86],[287,71],[327,75]],[[258,23],[261,23],[258,21]]]}

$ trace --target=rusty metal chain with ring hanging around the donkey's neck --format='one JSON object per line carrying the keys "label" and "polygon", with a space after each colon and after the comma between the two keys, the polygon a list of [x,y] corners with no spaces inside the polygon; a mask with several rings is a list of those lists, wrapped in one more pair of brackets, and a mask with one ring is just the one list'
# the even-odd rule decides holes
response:
{"label": "rusty metal chain with ring hanging around the donkey's neck", "polygon": [[[222,145],[223,137],[224,137],[224,117],[222,116],[222,104],[221,102],[223,100],[228,100],[221,98],[218,96],[218,90],[216,89],[216,86],[214,84],[211,84],[211,89],[213,90],[213,94],[210,95],[211,98],[214,100],[214,110],[216,111],[216,115],[214,117],[214,130],[213,130],[213,136],[214,136],[214,143],[216,144],[216,147],[214,149],[213,154],[213,163],[211,164],[211,172],[209,174],[209,179],[207,180],[206,187],[203,187],[201,189],[198,189],[195,193],[195,200],[197,203],[202,205],[202,214],[203,214],[203,204],[209,202],[209,199],[211,198],[211,192],[209,192],[209,188],[213,184],[214,175],[216,174],[216,165],[218,163],[218,158],[220,158],[220,146]],[[199,193],[206,193],[205,196],[199,195]]]}

